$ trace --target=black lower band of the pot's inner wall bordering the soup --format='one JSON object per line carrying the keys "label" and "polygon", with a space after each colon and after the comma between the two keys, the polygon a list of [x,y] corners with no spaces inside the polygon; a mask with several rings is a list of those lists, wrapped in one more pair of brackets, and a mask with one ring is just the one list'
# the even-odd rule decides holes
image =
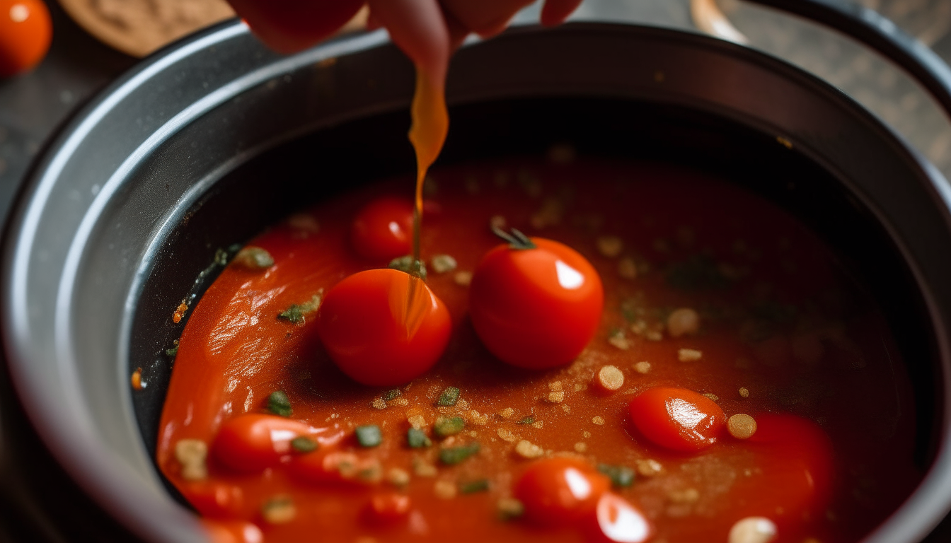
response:
{"label": "black lower band of the pot's inner wall bordering the soup", "polygon": [[[549,98],[476,103],[455,107],[451,114],[449,141],[438,164],[543,153],[553,143],[569,142],[581,154],[689,165],[798,216],[836,251],[889,320],[916,392],[916,459],[922,468],[930,464],[939,437],[935,383],[940,379],[921,293],[883,227],[823,167],[778,145],[775,136],[685,107]],[[148,382],[132,398],[153,457],[172,371],[173,359],[165,350],[187,320],[186,315],[174,324],[170,316],[184,297],[201,296],[222,269],[213,263],[216,251],[246,242],[283,215],[340,190],[412,172],[407,126],[405,111],[383,113],[261,154],[213,184],[151,256],[155,264],[134,309],[128,372],[141,367]],[[409,193],[411,187],[406,188]]]}

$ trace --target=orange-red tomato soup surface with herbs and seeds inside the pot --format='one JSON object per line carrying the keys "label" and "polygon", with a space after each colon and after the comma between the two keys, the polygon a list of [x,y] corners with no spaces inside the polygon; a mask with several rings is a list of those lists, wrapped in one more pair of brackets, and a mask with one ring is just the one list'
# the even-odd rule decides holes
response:
{"label": "orange-red tomato soup surface with herbs and seeds inside the pot", "polygon": [[[832,543],[860,539],[902,502],[921,477],[910,384],[882,315],[829,249],[724,180],[569,151],[434,170],[421,247],[452,332],[437,364],[399,386],[341,373],[314,316],[339,281],[387,266],[359,256],[352,223],[379,198],[408,200],[411,178],[274,224],[248,243],[273,263],[224,268],[187,309],[157,450],[163,474],[215,533]],[[516,368],[476,335],[472,272],[501,242],[490,223],[562,242],[600,276],[600,324],[567,365]],[[722,427],[692,450],[666,446],[650,420],[632,418],[650,395],[682,430],[703,421],[708,403]],[[245,432],[257,445],[220,435],[229,421],[258,420],[249,414],[286,425]],[[598,530],[624,524],[614,510],[526,514],[561,499],[542,495],[555,492],[543,484],[517,489],[532,466],[558,458],[607,475],[597,480],[648,528]],[[741,533],[749,517],[775,534]]]}

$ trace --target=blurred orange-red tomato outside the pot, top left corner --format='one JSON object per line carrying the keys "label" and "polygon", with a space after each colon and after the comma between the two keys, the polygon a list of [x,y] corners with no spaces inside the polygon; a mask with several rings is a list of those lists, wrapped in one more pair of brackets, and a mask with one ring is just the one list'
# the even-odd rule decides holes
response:
{"label": "blurred orange-red tomato outside the pot, top left corner", "polygon": [[0,77],[39,64],[52,33],[49,10],[42,0],[0,0]]}

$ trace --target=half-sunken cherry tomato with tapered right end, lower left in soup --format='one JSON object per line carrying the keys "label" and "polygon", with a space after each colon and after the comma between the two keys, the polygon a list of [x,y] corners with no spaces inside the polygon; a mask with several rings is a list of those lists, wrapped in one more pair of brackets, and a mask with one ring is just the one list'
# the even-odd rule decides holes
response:
{"label": "half-sunken cherry tomato with tapered right end, lower left in soup", "polygon": [[307,424],[274,415],[248,413],[224,421],[211,443],[211,453],[228,468],[245,473],[261,472],[289,455],[295,437],[313,436]]}

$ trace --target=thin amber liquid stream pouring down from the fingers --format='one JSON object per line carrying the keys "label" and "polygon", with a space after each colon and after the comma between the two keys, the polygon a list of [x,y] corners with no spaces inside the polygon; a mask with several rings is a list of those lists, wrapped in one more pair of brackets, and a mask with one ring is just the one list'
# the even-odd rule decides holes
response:
{"label": "thin amber liquid stream pouring down from the fingers", "polygon": [[410,263],[409,284],[406,289],[403,321],[407,338],[413,337],[425,313],[429,297],[422,285],[422,256],[419,254],[419,235],[422,228],[422,188],[426,172],[433,165],[446,141],[449,131],[449,113],[446,111],[445,82],[417,66],[416,92],[411,107],[413,125],[410,143],[417,155],[417,184],[413,201],[413,261]]}

